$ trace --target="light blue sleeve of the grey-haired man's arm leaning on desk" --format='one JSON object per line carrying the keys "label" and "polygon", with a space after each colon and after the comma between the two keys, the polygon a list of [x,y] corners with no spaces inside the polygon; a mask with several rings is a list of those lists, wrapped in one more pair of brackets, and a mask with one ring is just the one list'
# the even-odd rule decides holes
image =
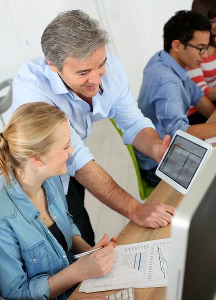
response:
{"label": "light blue sleeve of the grey-haired man's arm leaning on desk", "polygon": [[[23,84],[19,84],[13,82],[13,103],[11,111],[9,112],[9,117],[17,107],[28,102],[46,102],[55,106],[54,102],[47,96],[38,92],[32,83],[24,82]],[[75,129],[70,125],[69,120],[68,123],[71,133],[70,144],[73,146],[74,150],[67,160],[67,173],[74,176],[75,172],[82,168],[87,162],[94,159],[94,156],[90,153],[89,148],[85,146]]]}

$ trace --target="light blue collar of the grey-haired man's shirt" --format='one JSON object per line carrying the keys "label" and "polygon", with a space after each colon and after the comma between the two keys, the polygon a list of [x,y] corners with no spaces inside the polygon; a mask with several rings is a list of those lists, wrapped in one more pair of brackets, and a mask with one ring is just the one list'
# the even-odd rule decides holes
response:
{"label": "light blue collar of the grey-haired man's shirt", "polygon": [[[64,94],[64,93],[70,92],[68,90],[68,88],[66,87],[66,85],[64,84],[63,80],[61,79],[61,77],[59,76],[59,74],[56,72],[53,72],[48,64],[46,64],[45,73],[46,73],[47,78],[49,79],[53,94],[56,95],[56,94]],[[103,91],[104,91],[104,89],[103,89],[103,86],[101,83],[99,85],[98,92],[100,95],[102,95]]]}

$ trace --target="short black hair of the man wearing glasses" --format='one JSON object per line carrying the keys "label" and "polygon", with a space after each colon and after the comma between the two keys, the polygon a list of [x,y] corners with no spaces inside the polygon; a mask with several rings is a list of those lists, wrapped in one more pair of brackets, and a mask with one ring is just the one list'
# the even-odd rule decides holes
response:
{"label": "short black hair of the man wearing glasses", "polygon": [[164,25],[164,49],[169,52],[175,39],[182,43],[194,37],[195,31],[210,31],[210,20],[192,10],[180,10]]}

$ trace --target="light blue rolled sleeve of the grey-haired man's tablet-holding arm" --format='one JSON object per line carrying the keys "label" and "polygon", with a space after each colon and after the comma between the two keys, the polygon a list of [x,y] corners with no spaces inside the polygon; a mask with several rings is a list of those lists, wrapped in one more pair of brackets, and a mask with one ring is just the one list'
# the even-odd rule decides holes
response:
{"label": "light blue rolled sleeve of the grey-haired man's tablet-holding arm", "polygon": [[144,117],[138,108],[137,101],[130,91],[128,79],[125,71],[121,67],[122,72],[122,90],[118,101],[115,104],[114,119],[118,128],[123,131],[123,142],[125,144],[133,144],[136,135],[144,128],[151,127],[155,129],[152,121]]}

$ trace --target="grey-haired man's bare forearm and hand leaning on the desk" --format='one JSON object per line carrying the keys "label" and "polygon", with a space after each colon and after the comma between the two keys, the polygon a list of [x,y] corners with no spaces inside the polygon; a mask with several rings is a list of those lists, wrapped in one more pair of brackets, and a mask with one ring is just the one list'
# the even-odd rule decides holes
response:
{"label": "grey-haired man's bare forearm and hand leaning on the desk", "polygon": [[[164,139],[165,144],[166,142],[169,143],[167,137]],[[158,142],[158,144],[160,143]],[[160,144],[161,157],[167,146]],[[76,179],[103,203],[140,226],[153,228],[166,226],[171,222],[172,215],[175,212],[175,208],[169,205],[139,203],[93,160],[76,171]],[[112,241],[114,242],[111,239]]]}

